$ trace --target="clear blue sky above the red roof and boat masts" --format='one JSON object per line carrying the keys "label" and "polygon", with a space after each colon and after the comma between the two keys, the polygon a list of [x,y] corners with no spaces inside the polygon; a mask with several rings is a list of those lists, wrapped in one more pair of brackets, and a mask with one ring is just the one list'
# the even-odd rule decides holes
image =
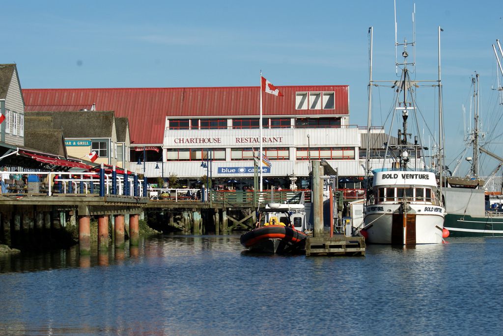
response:
{"label": "clear blue sky above the red roof and boat masts", "polygon": [[[399,41],[412,39],[412,5],[397,1]],[[258,86],[262,69],[275,85],[350,85],[350,122],[364,126],[370,26],[374,79],[395,79],[392,0],[22,1],[3,4],[2,14],[0,63],[17,63],[24,88]],[[444,29],[447,162],[463,147],[461,106],[469,114],[474,71],[482,128],[502,113],[491,90],[501,17],[499,1],[416,2],[416,79],[437,78]],[[391,104],[384,91],[374,91],[375,125]],[[433,91],[424,98],[419,104],[433,110]]]}

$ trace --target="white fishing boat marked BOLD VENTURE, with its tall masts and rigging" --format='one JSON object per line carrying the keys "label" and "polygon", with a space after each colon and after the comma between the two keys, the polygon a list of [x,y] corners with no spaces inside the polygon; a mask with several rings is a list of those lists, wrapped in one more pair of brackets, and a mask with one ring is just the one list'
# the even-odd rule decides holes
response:
{"label": "white fishing boat marked BOLD VENTURE, with its tall masts and rigging", "polygon": [[[439,27],[439,46],[440,31]],[[437,175],[435,170],[427,167],[424,161],[425,151],[428,148],[422,145],[421,134],[417,134],[419,133],[417,115],[420,111],[418,111],[415,101],[415,90],[429,82],[426,85],[438,87],[439,102],[441,102],[440,56],[438,80],[412,80],[410,73],[413,72],[414,76],[416,75],[415,57],[409,62],[407,47],[413,50],[415,41],[407,42],[405,40],[403,43],[395,43],[395,47],[403,46],[401,54],[403,61],[398,61],[398,59],[395,61],[398,74],[401,70],[400,78],[394,81],[374,81],[372,79],[372,28],[370,28],[369,32],[371,33],[371,60],[367,132],[370,134],[371,129],[372,86],[380,85],[391,86],[395,91],[395,106],[391,112],[390,120],[401,117],[402,128],[393,130],[393,123],[391,122],[388,141],[383,144],[385,154],[380,161],[382,163],[381,168],[374,169],[371,167],[369,153],[366,155],[369,187],[364,206],[364,227],[361,234],[367,238],[368,243],[375,244],[415,245],[442,243],[445,208],[440,197],[441,183],[437,181],[438,178],[440,182],[442,181],[442,175]],[[439,104],[438,118],[440,125],[442,125],[441,113],[441,104]],[[412,121],[409,120],[409,116]],[[412,126],[409,127],[409,123],[412,123]],[[413,138],[411,130],[416,131]],[[392,139],[392,132],[397,132],[398,137]],[[439,132],[440,139],[442,139],[442,126]],[[370,137],[367,136],[367,142],[369,141]],[[367,143],[367,151],[369,151],[370,147],[370,143]],[[440,145],[439,148],[443,148],[443,146]],[[442,155],[439,155],[439,158],[442,158]],[[376,164],[376,161],[373,164]],[[442,159],[436,166],[444,166]],[[371,188],[370,182],[372,182]]]}

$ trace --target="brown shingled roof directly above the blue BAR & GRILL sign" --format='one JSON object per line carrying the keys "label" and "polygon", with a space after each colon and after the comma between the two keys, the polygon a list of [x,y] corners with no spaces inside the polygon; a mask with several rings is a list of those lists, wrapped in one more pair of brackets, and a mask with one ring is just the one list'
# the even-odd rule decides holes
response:
{"label": "brown shingled roof directly above the blue BAR & GRILL sign", "polygon": [[32,111],[25,118],[38,117],[41,125],[62,129],[68,138],[111,138],[114,127],[114,111]]}

